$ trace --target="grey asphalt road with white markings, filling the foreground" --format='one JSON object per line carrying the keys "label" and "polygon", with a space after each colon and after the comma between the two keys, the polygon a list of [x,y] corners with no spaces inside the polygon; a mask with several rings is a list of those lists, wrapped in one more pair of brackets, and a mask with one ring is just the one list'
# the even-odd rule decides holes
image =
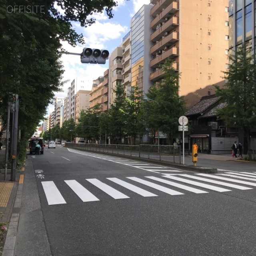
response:
{"label": "grey asphalt road with white markings, filling the foreground", "polygon": [[228,164],[203,176],[46,148],[26,161],[15,255],[255,256],[256,170]]}

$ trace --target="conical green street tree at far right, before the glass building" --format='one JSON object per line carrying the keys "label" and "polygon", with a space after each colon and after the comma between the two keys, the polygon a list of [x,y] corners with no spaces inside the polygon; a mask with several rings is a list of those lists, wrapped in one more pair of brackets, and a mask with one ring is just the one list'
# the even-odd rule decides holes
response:
{"label": "conical green street tree at far right, before the glass building", "polygon": [[[252,48],[241,44],[229,55],[229,67],[223,71],[226,84],[215,86],[217,96],[222,96],[223,108],[218,110],[219,119],[227,125],[244,131],[244,144],[248,146],[251,160],[250,131],[256,126],[256,65]],[[246,145],[247,144],[247,145]]]}

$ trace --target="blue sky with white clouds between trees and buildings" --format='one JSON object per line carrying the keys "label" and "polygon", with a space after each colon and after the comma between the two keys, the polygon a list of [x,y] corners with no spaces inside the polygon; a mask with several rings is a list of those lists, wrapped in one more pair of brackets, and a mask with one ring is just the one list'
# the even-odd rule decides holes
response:
{"label": "blue sky with white clouds between trees and buildings", "polygon": [[[106,49],[110,53],[122,42],[122,38],[130,31],[130,20],[144,4],[150,4],[150,0],[116,0],[118,6],[113,8],[114,17],[109,19],[104,11],[102,14],[92,15],[96,22],[92,26],[83,28],[79,23],[74,23],[74,29],[78,34],[83,34],[85,44],[70,46],[67,42],[62,42],[62,47],[67,52],[81,53],[84,47]],[[61,9],[59,10],[61,12]],[[63,92],[58,92],[55,97],[64,98],[68,94],[68,87],[74,78],[82,78],[86,84],[84,90],[92,89],[92,80],[103,76],[108,69],[106,64],[85,64],[81,63],[80,56],[63,54],[61,57],[64,66],[63,80],[69,80],[64,84]],[[48,106],[48,115],[54,111],[54,105]]]}

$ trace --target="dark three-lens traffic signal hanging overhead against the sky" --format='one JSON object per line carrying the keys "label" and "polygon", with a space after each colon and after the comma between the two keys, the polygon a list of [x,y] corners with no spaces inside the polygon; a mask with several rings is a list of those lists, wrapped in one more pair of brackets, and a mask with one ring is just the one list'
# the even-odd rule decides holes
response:
{"label": "dark three-lens traffic signal hanging overhead against the sky", "polygon": [[84,48],[83,52],[81,53],[81,62],[91,64],[105,64],[106,60],[108,60],[108,56],[108,50]]}

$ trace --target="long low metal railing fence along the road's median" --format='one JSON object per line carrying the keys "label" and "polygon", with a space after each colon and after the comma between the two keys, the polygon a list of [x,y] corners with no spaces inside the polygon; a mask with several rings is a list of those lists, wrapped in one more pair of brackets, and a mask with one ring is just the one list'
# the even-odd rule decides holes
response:
{"label": "long low metal railing fence along the road's median", "polygon": [[68,148],[77,148],[95,152],[105,152],[123,156],[148,158],[180,164],[180,146],[163,145],[119,145],[119,144],[76,144],[66,143]]}

